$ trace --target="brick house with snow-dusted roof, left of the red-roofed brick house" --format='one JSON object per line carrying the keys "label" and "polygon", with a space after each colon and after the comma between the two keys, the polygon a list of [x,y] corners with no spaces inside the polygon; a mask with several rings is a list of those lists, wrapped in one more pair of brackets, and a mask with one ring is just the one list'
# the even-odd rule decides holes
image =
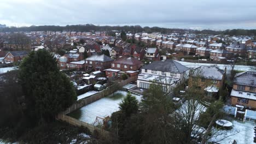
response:
{"label": "brick house with snow-dusted roof, left of the red-roofed brick house", "polygon": [[104,54],[92,55],[85,59],[85,70],[104,70],[110,68],[111,62],[114,60]]}

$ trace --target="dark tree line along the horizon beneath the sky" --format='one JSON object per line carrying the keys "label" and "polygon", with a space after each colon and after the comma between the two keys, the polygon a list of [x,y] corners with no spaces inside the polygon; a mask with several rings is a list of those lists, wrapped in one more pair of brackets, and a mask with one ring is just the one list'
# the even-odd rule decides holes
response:
{"label": "dark tree line along the horizon beneath the sky", "polygon": [[125,31],[132,33],[139,32],[160,32],[168,33],[196,33],[196,34],[226,34],[226,35],[256,35],[256,29],[226,29],[225,31],[213,31],[210,29],[203,29],[202,31],[193,29],[179,29],[179,28],[163,28],[163,27],[141,27],[136,26],[96,26],[92,24],[86,25],[67,25],[67,26],[30,26],[30,27],[5,27],[0,28],[0,32],[31,32],[31,31]]}

